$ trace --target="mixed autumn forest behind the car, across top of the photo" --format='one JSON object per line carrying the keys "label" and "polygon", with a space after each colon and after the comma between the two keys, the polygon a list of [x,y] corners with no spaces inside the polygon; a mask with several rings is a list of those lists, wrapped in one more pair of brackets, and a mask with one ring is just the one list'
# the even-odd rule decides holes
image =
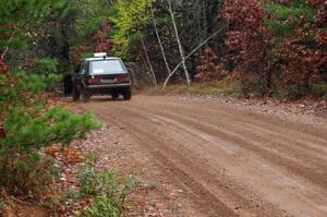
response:
{"label": "mixed autumn forest behind the car, across top of the photo", "polygon": [[24,2],[1,9],[12,70],[68,74],[105,51],[129,63],[140,87],[225,81],[244,96],[326,96],[324,0]]}

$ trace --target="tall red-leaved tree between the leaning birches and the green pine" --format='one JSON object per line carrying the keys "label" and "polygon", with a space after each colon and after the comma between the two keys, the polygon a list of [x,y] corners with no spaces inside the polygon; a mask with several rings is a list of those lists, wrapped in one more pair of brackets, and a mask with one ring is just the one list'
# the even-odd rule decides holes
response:
{"label": "tall red-leaved tree between the leaning birches and the green pine", "polygon": [[270,85],[268,49],[271,34],[265,20],[269,16],[256,0],[227,0],[220,17],[229,24],[226,45],[229,55],[226,57],[235,63],[243,84],[243,94],[247,95],[252,86],[259,81]]}

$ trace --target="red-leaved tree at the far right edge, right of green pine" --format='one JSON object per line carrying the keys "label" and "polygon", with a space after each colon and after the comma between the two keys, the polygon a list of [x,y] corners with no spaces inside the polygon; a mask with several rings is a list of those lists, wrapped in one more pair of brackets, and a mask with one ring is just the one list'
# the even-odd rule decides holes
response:
{"label": "red-leaved tree at the far right edge, right of green pine", "polygon": [[[272,49],[277,70],[282,73],[281,89],[291,97],[302,97],[312,94],[317,85],[327,85],[327,32],[323,28],[327,1],[311,0],[306,7],[315,7],[314,21],[307,14],[288,19],[293,34],[283,36],[282,40],[277,35],[276,40],[280,43]],[[327,88],[322,91],[327,94]]]}

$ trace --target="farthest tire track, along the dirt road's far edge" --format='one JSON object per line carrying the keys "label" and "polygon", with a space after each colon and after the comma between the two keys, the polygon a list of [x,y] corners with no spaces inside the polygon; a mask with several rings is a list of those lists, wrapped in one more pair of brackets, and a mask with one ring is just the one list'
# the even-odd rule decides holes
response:
{"label": "farthest tire track, along the dirt road's far edge", "polygon": [[[142,100],[145,96],[141,96]],[[146,97],[145,97],[146,98]],[[300,137],[308,137],[311,140],[316,140],[316,143],[320,143],[326,146],[327,141],[327,124],[323,129],[312,128],[312,125],[298,124],[289,121],[284,121],[278,117],[264,117],[258,113],[253,113],[249,111],[240,111],[220,104],[208,104],[204,101],[190,101],[173,99],[171,97],[157,97],[156,101],[149,101],[148,104],[159,108],[161,110],[173,110],[173,111],[192,111],[194,113],[207,113],[214,114],[214,117],[219,117],[225,120],[237,120],[242,123],[252,123],[254,125],[261,125],[265,129],[270,129],[275,132],[281,134],[296,135]],[[155,105],[153,105],[155,104]],[[142,105],[136,101],[135,105]],[[282,126],[282,128],[280,128]],[[294,137],[294,136],[293,136]]]}

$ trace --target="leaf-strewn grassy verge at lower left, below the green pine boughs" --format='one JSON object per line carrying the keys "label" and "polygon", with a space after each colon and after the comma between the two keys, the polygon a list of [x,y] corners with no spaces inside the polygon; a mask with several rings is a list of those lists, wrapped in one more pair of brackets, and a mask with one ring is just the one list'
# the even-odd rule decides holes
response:
{"label": "leaf-strewn grassy verge at lower left, below the green pine boughs", "polygon": [[[120,217],[134,208],[130,194],[138,189],[135,176],[124,177],[112,170],[100,170],[98,157],[94,153],[80,157],[81,153],[75,150],[68,159],[65,153],[69,148],[52,149],[55,160],[62,167],[64,176],[53,183],[51,195],[43,203],[2,195],[0,216]],[[2,193],[0,191],[0,195]]]}

